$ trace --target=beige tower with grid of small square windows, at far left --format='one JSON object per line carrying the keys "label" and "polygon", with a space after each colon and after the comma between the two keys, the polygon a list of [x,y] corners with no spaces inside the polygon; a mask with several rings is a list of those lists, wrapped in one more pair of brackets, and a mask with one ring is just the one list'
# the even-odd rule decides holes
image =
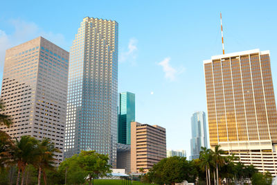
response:
{"label": "beige tower with grid of small square windows, at far left", "polygon": [[10,136],[49,138],[61,152],[66,121],[69,52],[43,37],[37,37],[6,51],[1,99],[4,114],[12,116]]}

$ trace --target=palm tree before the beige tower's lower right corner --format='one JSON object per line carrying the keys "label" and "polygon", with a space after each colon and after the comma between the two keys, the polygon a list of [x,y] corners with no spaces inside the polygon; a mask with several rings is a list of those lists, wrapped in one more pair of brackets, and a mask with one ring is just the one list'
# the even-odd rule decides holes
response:
{"label": "palm tree before the beige tower's lower right corner", "polygon": [[46,185],[46,169],[53,170],[55,168],[55,152],[60,152],[55,148],[54,143],[50,139],[42,139],[39,141],[36,150],[36,157],[33,165],[39,170],[37,177],[38,185],[40,185],[41,177],[44,177],[44,184]]}

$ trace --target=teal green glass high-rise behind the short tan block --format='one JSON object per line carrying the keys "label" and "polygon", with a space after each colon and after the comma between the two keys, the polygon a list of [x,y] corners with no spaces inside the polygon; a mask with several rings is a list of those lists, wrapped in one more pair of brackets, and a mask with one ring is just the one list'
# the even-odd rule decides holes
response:
{"label": "teal green glass high-rise behind the short tan block", "polygon": [[119,94],[118,143],[131,144],[131,122],[135,121],[135,95],[130,92]]}

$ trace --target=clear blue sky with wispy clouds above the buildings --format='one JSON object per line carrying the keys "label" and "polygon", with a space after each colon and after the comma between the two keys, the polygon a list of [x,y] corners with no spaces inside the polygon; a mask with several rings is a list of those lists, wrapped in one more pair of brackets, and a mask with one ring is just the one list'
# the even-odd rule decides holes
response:
{"label": "clear blue sky with wispy clouds above the buildings", "polygon": [[83,17],[119,24],[118,91],[136,94],[136,121],[166,127],[167,148],[190,152],[190,116],[206,112],[203,60],[271,51],[276,87],[275,1],[3,1],[0,76],[6,49],[42,35],[69,51]]}

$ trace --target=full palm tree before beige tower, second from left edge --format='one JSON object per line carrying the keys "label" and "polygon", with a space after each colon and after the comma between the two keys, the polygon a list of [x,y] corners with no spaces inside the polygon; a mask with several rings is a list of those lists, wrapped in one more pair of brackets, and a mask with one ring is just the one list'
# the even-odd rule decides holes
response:
{"label": "full palm tree before beige tower, second from left edge", "polygon": [[15,141],[12,151],[12,160],[17,163],[17,185],[19,185],[20,171],[22,173],[21,185],[24,184],[24,172],[28,164],[32,163],[37,148],[37,139],[31,136],[21,136],[20,140]]}

